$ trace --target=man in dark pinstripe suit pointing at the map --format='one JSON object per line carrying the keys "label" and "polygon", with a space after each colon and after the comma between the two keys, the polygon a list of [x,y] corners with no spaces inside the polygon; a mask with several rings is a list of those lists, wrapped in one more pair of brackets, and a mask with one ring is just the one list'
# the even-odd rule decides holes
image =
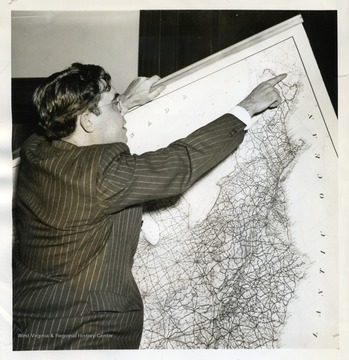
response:
{"label": "man in dark pinstripe suit pointing at the map", "polygon": [[157,76],[119,95],[103,68],[76,63],[35,91],[42,134],[21,149],[16,193],[14,350],[139,347],[143,305],[131,269],[142,204],[184,192],[232,153],[252,116],[281,101],[274,85],[284,76],[142,155],[129,152],[123,113],[159,95]]}

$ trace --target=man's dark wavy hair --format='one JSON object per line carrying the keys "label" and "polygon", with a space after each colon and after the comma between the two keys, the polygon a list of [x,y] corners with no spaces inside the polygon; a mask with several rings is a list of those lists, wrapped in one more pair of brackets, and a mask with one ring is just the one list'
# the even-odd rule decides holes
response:
{"label": "man's dark wavy hair", "polygon": [[33,94],[39,128],[49,140],[71,135],[77,116],[85,111],[100,114],[101,94],[111,88],[110,75],[98,65],[74,63],[49,76]]}

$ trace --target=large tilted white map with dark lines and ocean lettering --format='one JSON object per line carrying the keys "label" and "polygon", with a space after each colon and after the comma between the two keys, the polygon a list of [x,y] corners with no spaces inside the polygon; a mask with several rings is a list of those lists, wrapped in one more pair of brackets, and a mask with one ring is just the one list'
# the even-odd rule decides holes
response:
{"label": "large tilted white map with dark lines and ocean lettering", "polygon": [[167,81],[127,116],[135,153],[288,76],[282,104],[182,196],[146,204],[134,275],[142,348],[336,348],[336,118],[300,17]]}

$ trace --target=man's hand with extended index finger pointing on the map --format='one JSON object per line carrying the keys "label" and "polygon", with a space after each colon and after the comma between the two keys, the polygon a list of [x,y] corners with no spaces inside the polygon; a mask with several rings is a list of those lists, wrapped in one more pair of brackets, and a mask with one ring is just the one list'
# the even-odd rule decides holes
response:
{"label": "man's hand with extended index finger pointing on the map", "polygon": [[282,81],[287,74],[275,76],[260,83],[252,92],[238,105],[248,111],[252,117],[266,109],[277,107],[282,99],[275,85]]}

